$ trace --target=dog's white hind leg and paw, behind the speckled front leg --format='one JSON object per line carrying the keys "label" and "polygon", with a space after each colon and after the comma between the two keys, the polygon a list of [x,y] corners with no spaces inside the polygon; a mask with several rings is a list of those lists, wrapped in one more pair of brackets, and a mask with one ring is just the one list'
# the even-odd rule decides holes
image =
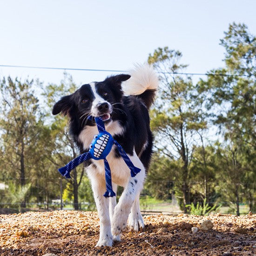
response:
{"label": "dog's white hind leg and paw, behind the speckled front leg", "polygon": [[141,216],[140,193],[138,193],[135,197],[135,201],[128,218],[128,227],[130,229],[134,229],[135,231],[139,231],[140,228],[143,229],[145,227],[143,218]]}

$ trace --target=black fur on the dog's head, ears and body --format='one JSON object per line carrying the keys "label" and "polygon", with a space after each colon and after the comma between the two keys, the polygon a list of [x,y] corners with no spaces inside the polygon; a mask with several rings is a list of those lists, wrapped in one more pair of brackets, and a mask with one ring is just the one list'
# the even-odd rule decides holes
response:
{"label": "black fur on the dog's head, ears and body", "polygon": [[[155,90],[147,90],[136,96],[124,96],[121,90],[121,82],[129,78],[130,75],[127,74],[111,76],[105,81],[95,82],[95,88],[97,94],[112,105],[111,120],[119,121],[124,128],[122,135],[114,135],[115,140],[130,155],[133,155],[133,149],[135,148],[136,154],[147,170],[153,147],[148,108],[154,101]],[[64,115],[69,116],[70,134],[81,154],[86,150],[84,150],[78,137],[85,126],[95,125],[93,120],[88,120],[94,99],[91,86],[84,84],[74,94],[62,97],[53,108],[53,115],[62,112]],[[86,100],[86,102],[83,100]],[[117,150],[116,157],[120,157]]]}

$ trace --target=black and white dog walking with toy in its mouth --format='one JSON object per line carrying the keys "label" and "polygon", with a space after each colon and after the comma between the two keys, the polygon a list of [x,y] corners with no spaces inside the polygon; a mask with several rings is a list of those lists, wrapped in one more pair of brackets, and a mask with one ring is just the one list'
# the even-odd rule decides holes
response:
{"label": "black and white dog walking with toy in its mouth", "polygon": [[148,169],[153,136],[149,127],[148,109],[154,101],[158,78],[152,67],[137,66],[128,74],[110,76],[102,82],[84,84],[74,94],[61,98],[53,108],[53,115],[62,112],[70,119],[70,135],[80,149],[88,151],[98,134],[88,116],[101,116],[106,130],[124,148],[133,164],[141,171],[131,177],[130,169],[115,146],[107,156],[111,169],[113,190],[124,187],[116,205],[116,198],[103,196],[106,190],[103,160],[86,163],[92,183],[94,200],[100,217],[100,239],[96,246],[112,246],[120,241],[120,233],[127,226],[138,231],[144,228],[139,197]]}

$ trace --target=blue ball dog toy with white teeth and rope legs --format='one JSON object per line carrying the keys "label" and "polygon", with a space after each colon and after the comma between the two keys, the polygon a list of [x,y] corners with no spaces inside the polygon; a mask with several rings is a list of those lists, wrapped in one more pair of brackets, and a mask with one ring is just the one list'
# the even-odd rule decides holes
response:
{"label": "blue ball dog toy with white teeth and rope legs", "polygon": [[77,158],[71,160],[66,166],[59,168],[59,172],[65,178],[70,179],[71,170],[73,170],[82,162],[89,160],[91,158],[94,160],[104,160],[106,188],[107,188],[107,191],[105,192],[104,196],[105,197],[115,196],[115,192],[112,189],[111,172],[110,172],[108,161],[106,159],[107,155],[111,151],[113,144],[116,145],[118,152],[120,153],[124,162],[127,164],[128,168],[131,170],[132,177],[135,177],[135,175],[139,173],[141,169],[133,165],[132,161],[130,160],[128,155],[125,153],[121,145],[114,140],[114,138],[110,133],[108,133],[105,130],[105,125],[101,117],[95,117],[95,121],[96,121],[99,134],[94,135],[94,139],[89,146],[90,150],[78,156]]}

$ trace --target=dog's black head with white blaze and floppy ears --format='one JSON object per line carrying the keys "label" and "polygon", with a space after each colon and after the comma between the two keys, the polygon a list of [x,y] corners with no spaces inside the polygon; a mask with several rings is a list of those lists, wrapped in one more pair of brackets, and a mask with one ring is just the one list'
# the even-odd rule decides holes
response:
{"label": "dog's black head with white blaze and floppy ears", "polygon": [[55,103],[53,115],[63,113],[70,118],[77,117],[85,125],[88,116],[101,116],[110,121],[115,112],[115,103],[120,103],[123,96],[121,83],[130,78],[128,74],[110,76],[102,82],[84,84],[74,94],[67,95]]}

